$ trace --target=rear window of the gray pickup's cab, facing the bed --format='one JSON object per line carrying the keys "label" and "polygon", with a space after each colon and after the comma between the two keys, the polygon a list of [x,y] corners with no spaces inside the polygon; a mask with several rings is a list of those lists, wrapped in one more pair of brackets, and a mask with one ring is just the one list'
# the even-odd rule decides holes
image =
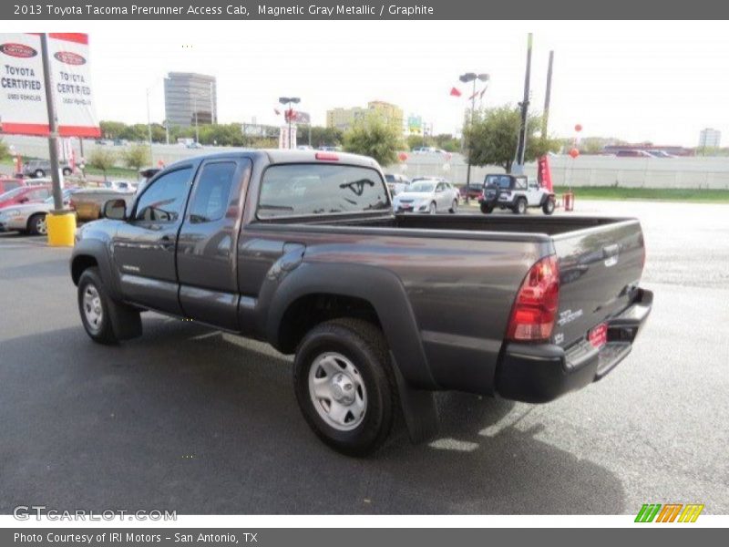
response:
{"label": "rear window of the gray pickup's cab, facing the bed", "polygon": [[258,218],[389,211],[385,183],[366,167],[301,163],[263,173]]}

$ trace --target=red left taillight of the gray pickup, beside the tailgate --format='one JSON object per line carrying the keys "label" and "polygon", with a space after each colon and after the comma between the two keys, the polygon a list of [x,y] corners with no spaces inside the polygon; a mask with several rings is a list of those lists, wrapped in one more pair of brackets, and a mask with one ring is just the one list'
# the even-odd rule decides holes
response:
{"label": "red left taillight of the gray pickup, beside the tailgate", "polygon": [[560,268],[552,255],[534,264],[521,284],[508,320],[508,340],[547,342],[559,304]]}

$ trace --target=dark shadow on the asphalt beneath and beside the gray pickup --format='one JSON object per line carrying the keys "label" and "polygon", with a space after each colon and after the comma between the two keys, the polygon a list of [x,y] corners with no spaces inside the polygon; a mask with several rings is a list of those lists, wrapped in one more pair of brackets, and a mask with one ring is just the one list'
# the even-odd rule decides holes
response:
{"label": "dark shadow on the asphalt beneath and beside the gray pickup", "polygon": [[146,315],[97,346],[80,325],[0,344],[0,513],[621,513],[609,470],[520,427],[526,405],[438,395],[441,431],[400,429],[374,456],[324,446],[299,413],[291,359]]}

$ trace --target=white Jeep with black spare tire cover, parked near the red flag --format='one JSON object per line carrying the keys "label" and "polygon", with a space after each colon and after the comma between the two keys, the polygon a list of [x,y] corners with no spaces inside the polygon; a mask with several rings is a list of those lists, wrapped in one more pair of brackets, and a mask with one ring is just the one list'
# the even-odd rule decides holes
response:
{"label": "white Jeep with black spare tire cover, parked near the red flag", "polygon": [[478,201],[481,212],[489,213],[494,209],[510,209],[516,214],[524,214],[529,207],[541,207],[544,214],[554,212],[554,192],[539,186],[536,179],[525,175],[486,175],[483,196]]}

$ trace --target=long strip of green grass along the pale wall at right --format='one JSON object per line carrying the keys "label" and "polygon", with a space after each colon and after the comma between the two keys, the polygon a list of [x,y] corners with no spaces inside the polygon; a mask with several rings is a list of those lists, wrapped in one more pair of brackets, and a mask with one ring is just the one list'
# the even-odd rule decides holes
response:
{"label": "long strip of green grass along the pale wall at right", "polygon": [[[567,191],[566,186],[555,186],[556,194]],[[575,199],[586,200],[654,200],[700,201],[729,203],[729,190],[696,190],[693,188],[621,188],[620,186],[572,187]]]}

